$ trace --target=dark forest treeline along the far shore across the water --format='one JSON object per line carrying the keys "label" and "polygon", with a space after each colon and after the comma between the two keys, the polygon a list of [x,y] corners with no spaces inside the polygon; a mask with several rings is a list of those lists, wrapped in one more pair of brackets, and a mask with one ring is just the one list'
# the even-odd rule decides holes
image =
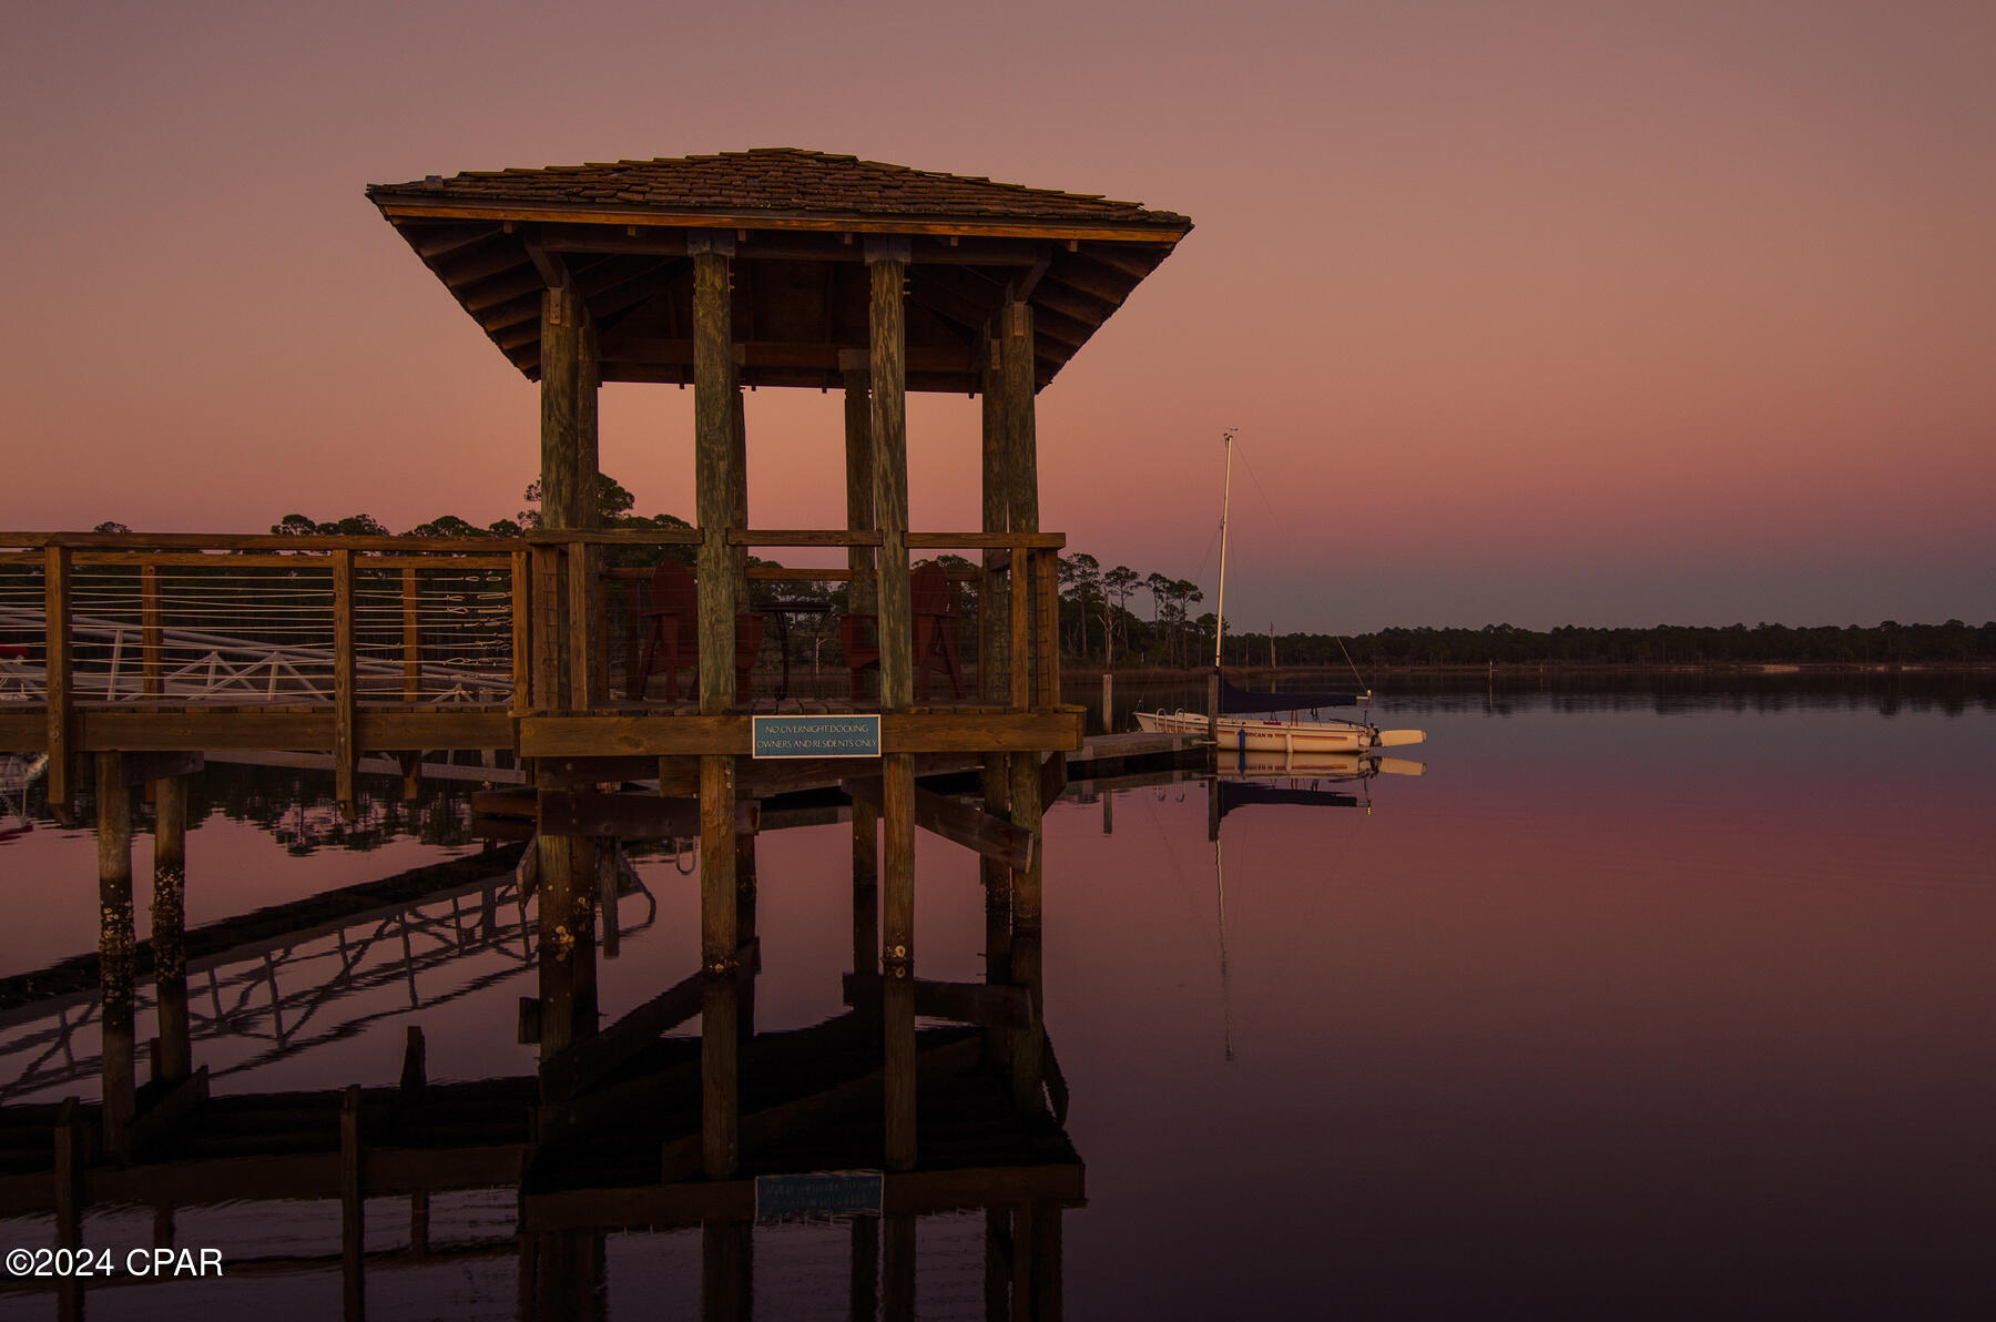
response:
{"label": "dark forest treeline along the far shore across the water", "polygon": [[[523,491],[525,509],[491,523],[471,523],[457,515],[439,515],[407,529],[409,537],[463,537],[467,541],[517,537],[541,525],[539,483]],[[599,475],[597,507],[607,527],[681,529],[685,519],[669,513],[637,515],[637,501],[617,479]],[[98,531],[126,531],[118,523],[102,523]],[[371,515],[349,515],[335,521],[315,521],[291,513],[271,525],[273,533],[297,537],[317,535],[391,535]],[[691,559],[691,547],[613,547],[617,563],[647,563],[673,555]],[[956,555],[940,557],[948,565],[970,567]],[[774,563],[756,561],[750,563]],[[754,583],[754,595],[776,591]],[[786,597],[824,597],[834,609],[844,605],[844,585],[816,587],[784,585]],[[1086,551],[1060,557],[1060,637],[1064,659],[1074,665],[1108,669],[1166,667],[1184,669],[1208,663],[1214,655],[1214,613],[1200,613],[1206,593],[1198,583],[1164,573],[1140,573],[1128,565],[1104,567]],[[824,621],[830,625],[830,621]],[[810,623],[798,629],[796,643],[814,645],[806,637]],[[1521,629],[1509,623],[1481,627],[1395,627],[1375,633],[1236,633],[1228,629],[1224,657],[1230,665],[1273,667],[1457,667],[1457,665],[1996,665],[1996,621],[1970,625],[1960,619],[1944,623],[1874,625],[1655,625],[1647,629],[1605,629],[1593,625],[1559,625],[1557,629]]]}

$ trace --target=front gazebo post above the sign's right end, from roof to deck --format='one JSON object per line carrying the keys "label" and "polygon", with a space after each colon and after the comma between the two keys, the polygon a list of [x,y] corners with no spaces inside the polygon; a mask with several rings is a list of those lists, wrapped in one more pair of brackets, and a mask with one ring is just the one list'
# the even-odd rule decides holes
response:
{"label": "front gazebo post above the sign's right end, from roof to deck", "polygon": [[906,278],[908,240],[868,240],[872,367],[874,519],[880,527],[880,707],[914,699],[914,631],[908,603],[908,399]]}

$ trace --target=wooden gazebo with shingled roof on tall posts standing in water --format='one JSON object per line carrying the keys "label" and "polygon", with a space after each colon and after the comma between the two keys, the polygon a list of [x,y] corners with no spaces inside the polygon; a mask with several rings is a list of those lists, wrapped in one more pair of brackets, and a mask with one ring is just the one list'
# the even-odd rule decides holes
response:
{"label": "wooden gazebo with shingled roof on tall posts standing in water", "polygon": [[[737,963],[752,935],[752,835],[737,835],[750,717],[735,693],[737,611],[747,549],[844,545],[852,599],[878,613],[878,783],[854,763],[826,781],[854,787],[854,903],[870,907],[874,815],[884,817],[880,987],[886,1034],[886,1162],[914,1164],[914,829],[984,853],[994,959],[1026,987],[1032,1024],[1008,1052],[1020,1094],[1038,1094],[1038,827],[1048,753],[1080,747],[1080,709],[1060,705],[1058,535],[1040,531],[1034,395],[1190,232],[1184,216],[1130,202],[864,162],[794,148],[679,160],[429,176],[373,186],[369,200],[479,324],[541,383],[541,489],[531,699],[517,751],[541,785],[607,779],[605,755],[699,759],[703,827],[705,1168],[737,1162],[733,1120]],[[601,623],[589,607],[601,381],[669,381],[695,391],[699,711],[619,709],[603,691]],[[846,397],[848,527],[748,527],[743,385],[840,387]],[[984,401],[984,527],[910,533],[908,389]],[[980,549],[978,703],[912,707],[910,557]],[[1010,627],[1008,627],[1010,625]],[[984,817],[916,791],[924,753],[982,755]],[[565,761],[555,761],[565,759]],[[858,763],[864,767],[864,763]],[[691,781],[691,777],[687,777]],[[934,803],[926,803],[926,801]],[[541,911],[557,935],[543,965],[543,1056],[595,1028],[589,921],[593,845],[613,817],[543,811]],[[990,819],[1012,833],[992,839]],[[563,925],[561,915],[575,921]],[[543,925],[549,919],[543,919]],[[587,947],[587,937],[581,939]],[[870,957],[866,961],[872,963]],[[864,977],[868,975],[860,969]],[[932,987],[932,985],[930,985]],[[934,992],[926,992],[934,994]]]}

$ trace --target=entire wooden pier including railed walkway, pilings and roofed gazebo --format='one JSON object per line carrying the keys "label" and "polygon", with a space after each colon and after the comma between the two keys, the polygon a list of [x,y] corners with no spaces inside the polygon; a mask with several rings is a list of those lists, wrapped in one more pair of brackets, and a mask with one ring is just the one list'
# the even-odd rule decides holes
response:
{"label": "entire wooden pier including railed walkway, pilings and roofed gazebo", "polygon": [[[1010,1080],[1018,1122],[1046,1116],[1058,1066],[1042,1004],[1040,817],[1084,731],[1082,709],[1060,693],[1064,537],[1040,529],[1034,405],[1190,222],[794,150],[431,176],[369,188],[369,200],[509,363],[539,381],[541,527],[475,541],[0,533],[0,751],[50,755],[58,813],[86,759],[98,785],[104,1100],[88,1130],[112,1168],[92,1180],[118,1186],[116,1162],[158,1140],[146,1130],[164,1122],[150,1116],[218,1104],[204,1100],[206,1076],[186,1050],[176,935],[200,859],[182,865],[170,805],[188,757],[228,751],[327,759],[345,811],[361,767],[387,765],[379,759],[393,759],[411,793],[425,753],[483,751],[519,769],[523,793],[489,807],[531,839],[523,869],[539,887],[539,994],[523,1030],[543,1056],[541,1156],[561,1150],[577,1108],[623,1116],[615,1098],[637,1096],[645,1078],[697,1078],[697,1110],[671,1110],[671,1120],[647,1110],[643,1142],[659,1146],[667,1186],[707,1182],[687,1208],[733,1206],[725,1190],[794,1112],[758,1082],[780,1048],[756,1044],[754,977],[743,963],[756,947],[756,801],[810,787],[840,787],[852,801],[854,1008],[826,1028],[848,1064],[822,1082],[874,1116],[848,1128],[862,1138],[836,1160],[888,1172],[952,1160],[924,1136],[926,1088],[938,1060],[954,1068],[964,1052]],[[693,527],[601,525],[603,381],[693,389]],[[758,387],[842,391],[832,443],[844,447],[846,527],[750,521],[743,389]],[[982,527],[916,531],[910,389],[980,401],[982,449],[966,461],[982,471]],[[657,595],[667,571],[613,567],[609,549],[687,563],[697,619]],[[844,563],[748,565],[750,551],[786,549],[842,551]],[[918,563],[944,551],[974,557],[972,569],[952,577]],[[739,677],[754,683],[768,623],[754,609],[756,581],[844,587],[848,695],[798,703],[739,689]],[[649,697],[647,657],[667,631],[697,649],[683,703]],[[970,643],[962,663],[960,641]],[[948,697],[928,699],[934,685]],[[850,739],[806,729],[806,717],[850,717],[834,723]],[[758,733],[832,743],[814,745],[824,757],[764,757]],[[918,771],[940,769],[974,771],[980,803],[916,785]],[[124,789],[140,783],[162,805],[152,973],[170,1042],[148,1088],[134,1078]],[[918,829],[982,859],[982,985],[916,979]],[[639,1018],[599,1032],[597,947],[617,931],[599,929],[601,879],[617,871],[621,837],[679,831],[701,839],[701,969]],[[641,1064],[693,1012],[703,1016],[697,1060]],[[974,1030],[946,1040],[916,1030],[918,1016],[936,1014],[968,1016]],[[569,1096],[547,1070],[593,1078],[613,1100]],[[315,1104],[331,1134],[331,1102]],[[387,1102],[349,1094],[341,1104],[341,1132],[365,1136]],[[58,1130],[78,1130],[84,1114],[70,1108]],[[495,1138],[463,1160],[499,1170],[521,1142]],[[311,1160],[313,1178],[333,1178],[331,1148]],[[353,1178],[365,1186],[369,1172],[391,1178],[387,1166]],[[541,1196],[539,1176],[527,1188],[529,1200]],[[549,1184],[545,1196],[561,1194]],[[675,1198],[647,1204],[647,1216]]]}

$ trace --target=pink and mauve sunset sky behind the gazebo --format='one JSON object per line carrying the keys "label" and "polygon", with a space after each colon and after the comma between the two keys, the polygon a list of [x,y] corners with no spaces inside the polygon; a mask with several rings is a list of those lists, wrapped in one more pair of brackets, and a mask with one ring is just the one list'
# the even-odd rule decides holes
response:
{"label": "pink and mauve sunset sky behind the gazebo", "polygon": [[[1996,617],[1996,6],[48,4],[0,16],[0,527],[489,521],[535,387],[361,190],[750,146],[1184,212],[1042,525],[1261,629]],[[693,513],[693,393],[603,467]],[[978,405],[910,407],[974,527]],[[836,395],[750,521],[842,523]],[[1148,611],[1148,603],[1140,603]]]}

